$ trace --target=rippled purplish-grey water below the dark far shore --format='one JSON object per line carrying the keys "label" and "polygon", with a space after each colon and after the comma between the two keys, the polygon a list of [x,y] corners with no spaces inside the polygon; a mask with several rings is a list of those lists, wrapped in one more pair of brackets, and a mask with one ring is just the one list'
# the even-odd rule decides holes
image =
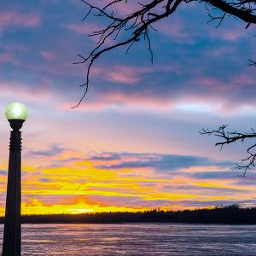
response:
{"label": "rippled purplish-grey water below the dark far shore", "polygon": [[23,224],[22,255],[256,255],[256,225]]}

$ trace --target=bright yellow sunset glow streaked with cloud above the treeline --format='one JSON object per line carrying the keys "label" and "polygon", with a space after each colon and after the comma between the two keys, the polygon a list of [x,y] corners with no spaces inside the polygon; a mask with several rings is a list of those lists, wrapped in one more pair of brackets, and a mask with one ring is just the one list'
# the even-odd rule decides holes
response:
{"label": "bright yellow sunset glow streaked with cloud above the treeline", "polygon": [[[65,157],[58,157],[57,160],[65,160]],[[116,163],[116,160],[113,162]],[[157,207],[163,210],[183,210],[195,208],[189,206],[189,202],[191,205],[194,202],[200,205],[207,201],[208,207],[212,207],[215,201],[234,201],[241,197],[243,200],[251,200],[256,197],[253,185],[236,184],[227,178],[189,177],[189,172],[196,172],[195,167],[176,173],[175,176],[167,176],[163,172],[156,174],[152,168],[108,170],[96,168],[88,160],[74,161],[68,165],[64,163],[61,167],[47,167],[45,164],[44,168],[36,168],[26,164],[22,168],[26,170],[21,186],[22,214],[137,212]],[[203,170],[201,166],[197,171]],[[213,171],[215,167],[210,166],[209,170]],[[1,176],[0,181],[0,191],[4,193],[6,176]],[[222,193],[225,190],[218,192],[218,189],[230,190]],[[0,215],[3,214],[2,205]]]}

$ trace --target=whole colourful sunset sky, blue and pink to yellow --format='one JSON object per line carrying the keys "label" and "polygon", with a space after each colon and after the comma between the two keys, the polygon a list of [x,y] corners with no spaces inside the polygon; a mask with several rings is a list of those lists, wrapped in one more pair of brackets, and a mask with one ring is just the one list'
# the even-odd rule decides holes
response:
{"label": "whole colourful sunset sky, blue and pink to yellow", "polygon": [[[94,1],[101,3],[101,1]],[[134,3],[131,1],[131,3]],[[118,7],[125,15],[133,5]],[[201,128],[255,127],[253,25],[227,16],[207,23],[202,3],[183,3],[150,32],[147,45],[96,61],[79,108],[88,34],[106,20],[82,21],[79,0],[0,3],[0,215],[4,213],[9,123],[23,102],[22,213],[79,213],[256,207],[256,172],[239,177],[247,142],[214,147]],[[111,42],[110,42],[111,43]],[[109,43],[109,44],[110,44]]]}

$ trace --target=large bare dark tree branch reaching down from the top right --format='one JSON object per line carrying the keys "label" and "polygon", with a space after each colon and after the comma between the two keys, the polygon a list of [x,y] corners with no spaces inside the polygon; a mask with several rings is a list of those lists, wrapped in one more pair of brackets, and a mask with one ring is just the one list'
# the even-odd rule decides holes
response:
{"label": "large bare dark tree branch reaching down from the top right", "polygon": [[[218,20],[218,27],[224,20],[226,15],[233,15],[247,23],[247,26],[256,24],[256,1],[248,0],[151,0],[138,3],[138,9],[131,11],[127,15],[120,14],[114,10],[118,3],[128,3],[128,0],[112,0],[107,1],[103,7],[99,7],[93,1],[81,0],[87,8],[87,14],[83,20],[88,19],[91,15],[97,19],[107,19],[108,25],[102,30],[92,32],[90,37],[98,37],[98,42],[89,55],[78,55],[79,61],[74,64],[86,64],[85,82],[80,86],[85,87],[84,94],[80,98],[79,103],[73,108],[79,107],[84,100],[89,87],[90,71],[95,61],[103,54],[127,46],[126,53],[131,47],[141,39],[146,41],[147,49],[153,62],[153,52],[150,44],[150,32],[154,30],[154,23],[159,20],[164,20],[172,15],[182,3],[198,2],[204,3],[207,13],[210,17],[209,21]],[[143,1],[143,0],[142,0]],[[223,11],[223,15],[214,16],[212,10],[219,9]],[[170,25],[172,26],[172,25]],[[125,35],[125,39],[120,38],[120,34]],[[109,41],[111,41],[109,44]],[[251,61],[251,66],[256,66],[255,62]]]}

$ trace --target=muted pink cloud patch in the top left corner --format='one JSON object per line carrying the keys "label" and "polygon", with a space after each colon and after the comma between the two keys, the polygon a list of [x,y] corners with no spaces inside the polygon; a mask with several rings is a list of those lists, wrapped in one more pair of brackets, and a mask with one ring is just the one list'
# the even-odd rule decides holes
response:
{"label": "muted pink cloud patch in the top left corner", "polygon": [[16,10],[0,11],[0,31],[8,26],[35,27],[40,23],[40,17],[36,14],[21,14]]}

